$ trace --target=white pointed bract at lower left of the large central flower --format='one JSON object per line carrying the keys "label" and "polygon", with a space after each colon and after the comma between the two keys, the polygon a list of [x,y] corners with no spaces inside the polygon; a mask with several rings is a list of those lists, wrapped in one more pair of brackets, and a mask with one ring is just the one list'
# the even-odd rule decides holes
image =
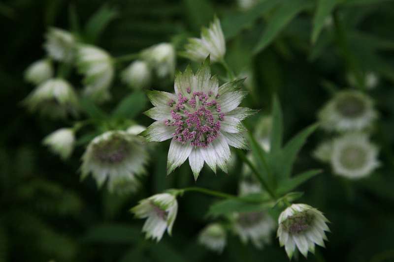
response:
{"label": "white pointed bract at lower left of the large central flower", "polygon": [[175,139],[172,139],[168,150],[167,175],[188,159],[192,149],[193,146],[189,143],[185,143],[183,145],[182,143],[175,141]]}

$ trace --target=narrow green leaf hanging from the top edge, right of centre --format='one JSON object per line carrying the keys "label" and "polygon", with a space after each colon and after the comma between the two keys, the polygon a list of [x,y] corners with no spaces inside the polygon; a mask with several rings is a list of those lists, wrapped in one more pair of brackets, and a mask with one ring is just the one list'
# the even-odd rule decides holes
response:
{"label": "narrow green leaf hanging from the top edge, right of centre", "polygon": [[318,0],[317,10],[313,18],[312,43],[316,42],[326,18],[331,14],[337,3],[337,0]]}

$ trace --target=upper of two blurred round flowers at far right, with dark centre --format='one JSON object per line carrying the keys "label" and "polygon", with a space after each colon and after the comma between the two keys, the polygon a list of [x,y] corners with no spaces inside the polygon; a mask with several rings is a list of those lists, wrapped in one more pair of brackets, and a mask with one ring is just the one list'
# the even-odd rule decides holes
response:
{"label": "upper of two blurred round flowers at far right, with dark centre", "polygon": [[359,91],[341,91],[319,113],[328,131],[359,131],[371,126],[377,118],[372,100]]}

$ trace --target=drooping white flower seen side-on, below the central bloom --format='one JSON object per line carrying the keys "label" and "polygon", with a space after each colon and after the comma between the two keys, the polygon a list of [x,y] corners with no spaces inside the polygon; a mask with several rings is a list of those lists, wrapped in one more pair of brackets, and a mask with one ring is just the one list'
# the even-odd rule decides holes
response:
{"label": "drooping white flower seen side-on, below the central bloom", "polygon": [[173,195],[168,193],[143,199],[138,205],[131,208],[131,212],[137,218],[147,218],[142,228],[145,237],[156,238],[158,242],[162,239],[165,230],[171,235],[177,211],[178,202]]}

